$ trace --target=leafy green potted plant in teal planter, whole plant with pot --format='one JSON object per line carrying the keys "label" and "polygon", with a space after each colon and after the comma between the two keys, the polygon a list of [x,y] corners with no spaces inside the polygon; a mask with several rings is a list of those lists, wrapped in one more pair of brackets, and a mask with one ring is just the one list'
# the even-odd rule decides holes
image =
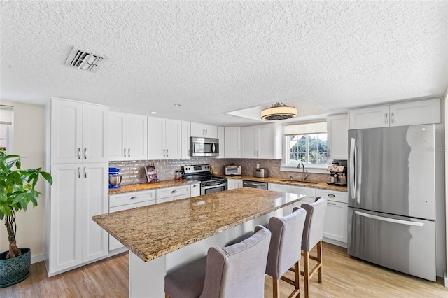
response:
{"label": "leafy green potted plant in teal planter, whole plant with pot", "polygon": [[19,155],[0,156],[0,220],[5,219],[9,240],[9,250],[0,253],[0,288],[27,278],[31,263],[29,248],[18,248],[15,241],[15,213],[22,209],[27,211],[30,202],[34,207],[37,206],[41,193],[34,187],[39,176],[52,184],[50,174],[41,168],[23,170],[20,166]]}

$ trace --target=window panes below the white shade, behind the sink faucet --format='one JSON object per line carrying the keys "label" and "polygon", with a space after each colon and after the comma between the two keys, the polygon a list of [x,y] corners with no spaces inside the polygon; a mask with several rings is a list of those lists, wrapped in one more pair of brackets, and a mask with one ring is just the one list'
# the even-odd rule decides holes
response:
{"label": "window panes below the white shade, behind the sink faucet", "polygon": [[288,138],[288,164],[325,165],[328,160],[327,134],[295,134]]}

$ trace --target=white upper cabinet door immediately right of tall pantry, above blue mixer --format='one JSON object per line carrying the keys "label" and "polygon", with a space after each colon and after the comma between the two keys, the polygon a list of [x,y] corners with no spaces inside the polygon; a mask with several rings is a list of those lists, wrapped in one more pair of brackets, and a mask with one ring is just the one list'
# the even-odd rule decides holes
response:
{"label": "white upper cabinet door immediately right of tall pantry, above blue mixer", "polygon": [[127,159],[127,113],[109,112],[109,160]]}

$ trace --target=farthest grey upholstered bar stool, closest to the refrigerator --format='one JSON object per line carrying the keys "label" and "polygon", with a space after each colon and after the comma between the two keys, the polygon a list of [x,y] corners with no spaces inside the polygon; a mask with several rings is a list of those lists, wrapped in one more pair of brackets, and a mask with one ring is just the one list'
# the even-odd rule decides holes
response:
{"label": "farthest grey upholstered bar stool, closest to the refrigerator", "polygon": [[[309,297],[309,280],[316,271],[318,272],[318,282],[322,283],[322,229],[326,206],[327,200],[320,197],[317,197],[314,203],[302,204],[302,208],[307,211],[302,235],[305,298]],[[317,246],[317,255],[309,255],[314,246]],[[311,270],[309,269],[309,259],[317,262]]]}

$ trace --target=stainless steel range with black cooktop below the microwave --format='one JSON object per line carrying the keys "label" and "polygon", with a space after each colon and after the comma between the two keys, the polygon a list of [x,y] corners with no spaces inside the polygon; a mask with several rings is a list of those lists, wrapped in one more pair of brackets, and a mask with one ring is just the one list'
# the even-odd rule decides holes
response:
{"label": "stainless steel range with black cooktop below the microwave", "polygon": [[201,195],[227,190],[227,178],[211,175],[209,164],[182,166],[182,178],[201,182]]}

